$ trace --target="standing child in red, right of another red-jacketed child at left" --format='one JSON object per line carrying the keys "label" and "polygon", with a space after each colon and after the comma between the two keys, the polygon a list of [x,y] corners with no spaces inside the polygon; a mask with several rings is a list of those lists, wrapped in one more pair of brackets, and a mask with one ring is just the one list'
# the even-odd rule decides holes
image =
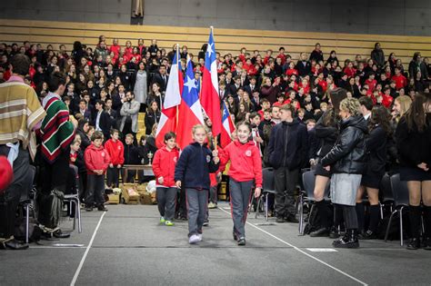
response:
{"label": "standing child in red, right of another red-jacketed child at left", "polygon": [[118,140],[118,136],[118,130],[112,129],[111,139],[105,143],[105,150],[111,158],[106,174],[106,184],[110,188],[118,188],[120,170],[125,163],[125,146]]}

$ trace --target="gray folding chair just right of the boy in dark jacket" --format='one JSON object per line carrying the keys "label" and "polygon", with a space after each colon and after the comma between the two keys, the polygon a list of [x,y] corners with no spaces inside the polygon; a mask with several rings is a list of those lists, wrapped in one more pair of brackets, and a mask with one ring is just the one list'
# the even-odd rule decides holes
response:
{"label": "gray folding chair just right of the boy in dark jacket", "polygon": [[[305,191],[301,191],[298,196],[298,208],[299,208],[299,235],[304,235],[304,203],[315,202],[315,183],[316,176],[315,171],[307,171],[302,174],[302,182]],[[324,200],[329,200],[329,182],[326,185],[326,190],[324,194]],[[311,217],[312,212],[315,209],[315,204],[311,205],[309,217]]]}

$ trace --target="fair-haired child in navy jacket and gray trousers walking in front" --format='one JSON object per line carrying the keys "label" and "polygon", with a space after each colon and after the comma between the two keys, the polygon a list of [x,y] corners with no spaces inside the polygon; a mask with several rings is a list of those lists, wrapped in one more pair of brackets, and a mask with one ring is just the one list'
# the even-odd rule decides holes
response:
{"label": "fair-haired child in navy jacket and gray trousers walking in front", "polygon": [[192,130],[194,143],[183,150],[175,167],[175,185],[185,188],[188,203],[188,242],[202,241],[202,226],[210,188],[209,173],[216,173],[219,165],[218,152],[211,152],[206,143],[203,125]]}

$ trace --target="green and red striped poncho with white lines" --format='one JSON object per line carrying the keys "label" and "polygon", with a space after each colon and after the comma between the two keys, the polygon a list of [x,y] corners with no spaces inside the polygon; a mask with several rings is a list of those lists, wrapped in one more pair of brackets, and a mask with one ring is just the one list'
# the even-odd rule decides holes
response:
{"label": "green and red striped poncho with white lines", "polygon": [[74,124],[69,121],[69,111],[57,94],[49,93],[43,101],[46,116],[40,129],[41,151],[49,163],[54,163],[58,155],[75,138]]}

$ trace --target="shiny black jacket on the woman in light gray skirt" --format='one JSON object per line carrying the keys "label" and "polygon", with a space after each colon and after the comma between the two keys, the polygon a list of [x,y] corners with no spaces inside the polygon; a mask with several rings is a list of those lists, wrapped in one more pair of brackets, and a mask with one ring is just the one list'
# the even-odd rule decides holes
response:
{"label": "shiny black jacket on the woman in light gray skirt", "polygon": [[366,132],[364,116],[356,115],[343,120],[336,145],[322,159],[322,165],[331,165],[334,173],[364,173]]}

